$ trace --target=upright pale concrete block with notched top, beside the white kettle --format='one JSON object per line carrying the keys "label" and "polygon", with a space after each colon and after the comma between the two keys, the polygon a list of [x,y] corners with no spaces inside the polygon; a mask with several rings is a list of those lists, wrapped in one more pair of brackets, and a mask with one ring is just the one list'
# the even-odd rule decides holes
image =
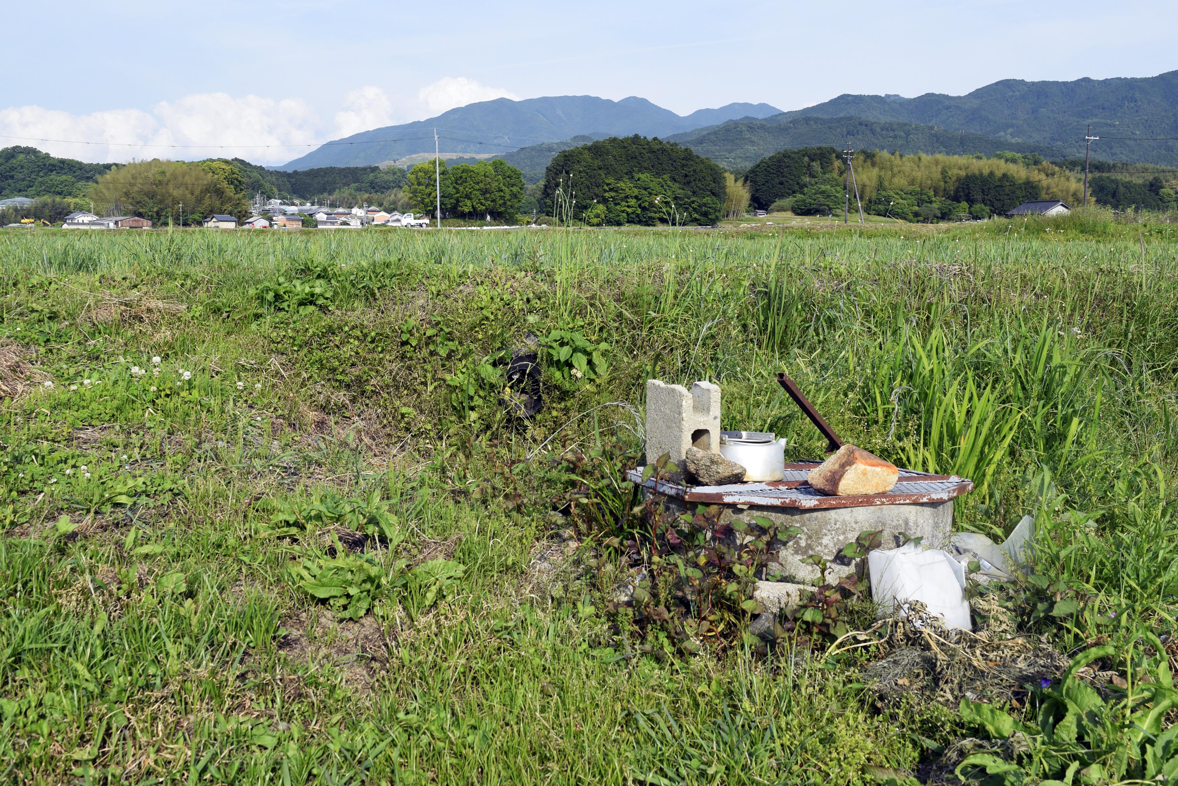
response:
{"label": "upright pale concrete block with notched top, beside the white kettle", "polygon": [[687,449],[720,453],[720,387],[696,382],[688,390],[647,379],[647,461],[664,453],[683,470]]}

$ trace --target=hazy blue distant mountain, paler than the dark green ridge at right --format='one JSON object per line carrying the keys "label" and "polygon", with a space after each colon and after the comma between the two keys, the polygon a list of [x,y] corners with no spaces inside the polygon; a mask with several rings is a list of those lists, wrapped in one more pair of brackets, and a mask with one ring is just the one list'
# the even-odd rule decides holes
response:
{"label": "hazy blue distant mountain, paler than the dark green ridge at right", "polygon": [[336,139],[274,169],[365,166],[413,153],[432,153],[435,128],[445,152],[491,153],[578,134],[600,138],[635,133],[666,137],[724,120],[780,113],[781,110],[768,104],[728,104],[683,117],[634,95],[620,101],[594,95],[555,95],[519,101],[497,98],[459,106],[428,120]]}

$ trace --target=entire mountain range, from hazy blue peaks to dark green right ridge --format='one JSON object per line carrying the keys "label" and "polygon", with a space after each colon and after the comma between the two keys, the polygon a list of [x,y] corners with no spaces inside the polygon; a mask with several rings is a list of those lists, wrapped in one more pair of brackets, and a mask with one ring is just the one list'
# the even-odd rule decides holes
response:
{"label": "entire mountain range, from hazy blue peaks to dark green right ridge", "polygon": [[578,137],[588,141],[635,133],[677,141],[732,169],[785,147],[848,141],[856,148],[905,153],[1010,150],[1058,159],[1084,153],[1088,124],[1100,137],[1092,147],[1096,159],[1178,166],[1178,71],[1074,81],[1004,79],[965,95],[843,94],[789,112],[768,104],[728,104],[686,117],[636,97],[501,98],[353,134],[277,169],[360,166],[432,153],[435,127],[445,152],[496,152],[529,181],[556,152],[584,144]]}

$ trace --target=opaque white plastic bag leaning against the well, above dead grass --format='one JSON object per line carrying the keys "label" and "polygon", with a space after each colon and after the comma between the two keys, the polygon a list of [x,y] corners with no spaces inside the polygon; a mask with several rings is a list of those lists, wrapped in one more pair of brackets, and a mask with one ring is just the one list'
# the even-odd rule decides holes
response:
{"label": "opaque white plastic bag leaning against the well, above dead grass", "polygon": [[951,628],[972,630],[965,599],[965,566],[940,549],[905,543],[867,555],[872,596],[884,609],[904,601],[920,601]]}

